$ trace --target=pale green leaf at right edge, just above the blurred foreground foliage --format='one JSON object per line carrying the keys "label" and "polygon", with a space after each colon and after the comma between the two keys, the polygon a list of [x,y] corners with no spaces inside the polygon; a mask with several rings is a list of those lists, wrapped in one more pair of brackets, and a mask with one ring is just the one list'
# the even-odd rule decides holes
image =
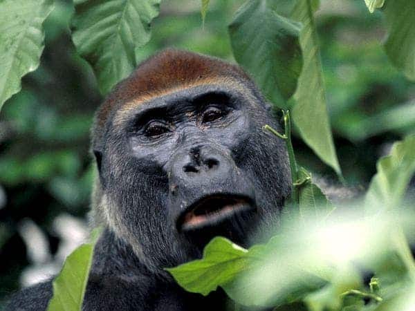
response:
{"label": "pale green leaf at right edge, just above the blurred foreground foliage", "polygon": [[415,173],[415,135],[394,144],[389,156],[381,158],[376,167],[378,173],[365,198],[368,211],[398,207]]}

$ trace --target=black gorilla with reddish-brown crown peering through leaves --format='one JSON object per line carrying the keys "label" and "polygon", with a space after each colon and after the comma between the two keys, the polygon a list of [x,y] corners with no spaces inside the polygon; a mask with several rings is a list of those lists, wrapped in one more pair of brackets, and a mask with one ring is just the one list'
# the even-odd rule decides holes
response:
{"label": "black gorilla with reddish-brown crown peering through leaves", "polygon": [[[164,268],[200,258],[214,236],[249,247],[278,224],[291,174],[264,124],[281,130],[250,77],[195,53],[164,50],[113,89],[91,135],[103,232],[83,310],[225,310],[223,291],[185,292]],[[6,310],[45,310],[51,284]]]}

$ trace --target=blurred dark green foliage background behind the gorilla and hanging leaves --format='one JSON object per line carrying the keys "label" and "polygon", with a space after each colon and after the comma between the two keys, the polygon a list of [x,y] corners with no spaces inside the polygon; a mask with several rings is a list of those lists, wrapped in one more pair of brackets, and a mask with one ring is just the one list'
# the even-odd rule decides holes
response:
{"label": "blurred dark green foliage background behind the gorilla and hanging leaves", "polygon": [[[102,100],[92,70],[68,35],[71,1],[56,1],[45,22],[41,65],[0,113],[0,300],[59,271],[87,235],[93,179],[89,128]],[[138,59],[176,46],[234,62],[227,25],[242,1],[165,1]],[[348,185],[365,188],[392,142],[415,132],[415,84],[385,55],[380,12],[363,0],[322,0],[317,12],[331,125]],[[335,182],[295,138],[299,162]]]}

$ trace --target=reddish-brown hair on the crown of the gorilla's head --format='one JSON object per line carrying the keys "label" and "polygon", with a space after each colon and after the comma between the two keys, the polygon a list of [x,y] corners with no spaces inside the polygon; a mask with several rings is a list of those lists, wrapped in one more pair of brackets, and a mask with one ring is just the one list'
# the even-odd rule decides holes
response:
{"label": "reddish-brown hair on the crown of the gorilla's head", "polygon": [[163,50],[142,62],[127,79],[113,89],[95,115],[94,135],[102,133],[102,127],[111,111],[119,109],[126,102],[203,81],[214,81],[219,77],[234,77],[239,81],[249,79],[241,68],[220,59],[171,48]]}

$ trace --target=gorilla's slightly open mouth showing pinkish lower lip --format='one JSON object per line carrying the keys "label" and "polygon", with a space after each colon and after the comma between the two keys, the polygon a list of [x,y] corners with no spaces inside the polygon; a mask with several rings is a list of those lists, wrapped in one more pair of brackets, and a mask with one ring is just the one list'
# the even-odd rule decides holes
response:
{"label": "gorilla's slightly open mouth showing pinkish lower lip", "polygon": [[214,226],[235,214],[255,209],[254,202],[246,196],[212,195],[190,205],[179,216],[178,231],[191,231]]}

